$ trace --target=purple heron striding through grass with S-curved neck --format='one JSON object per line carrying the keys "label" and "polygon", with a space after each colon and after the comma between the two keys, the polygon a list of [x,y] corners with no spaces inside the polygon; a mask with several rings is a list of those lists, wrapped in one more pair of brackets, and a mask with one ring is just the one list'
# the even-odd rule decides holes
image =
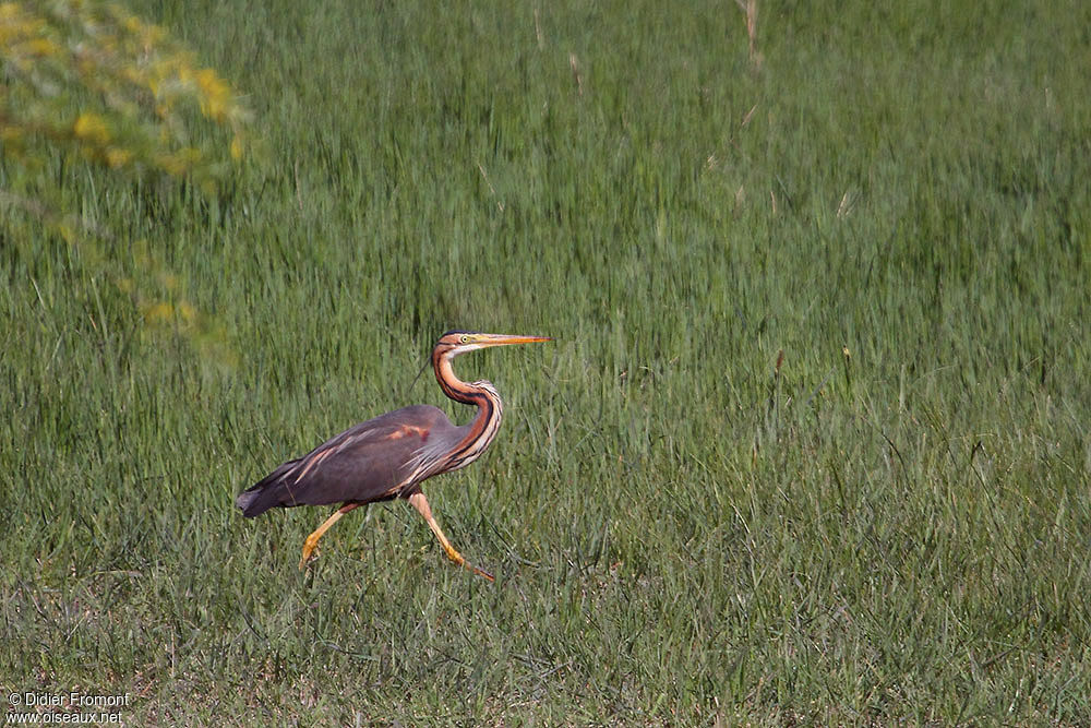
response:
{"label": "purple heron striding through grass with S-curved neck", "polygon": [[488,346],[552,341],[547,336],[511,336],[448,331],[432,349],[432,368],[443,393],[455,402],[477,405],[469,425],[454,425],[439,407],[412,405],[345,430],[297,460],[281,464],[239,493],[235,504],[248,518],[273,508],[340,503],[307,537],[299,568],[307,565],[319,539],[341,516],[365,503],[404,498],[420,512],[447,558],[490,582],[492,574],[471,565],[455,550],[432,516],[420,484],[433,475],[466,467],[484,452],[500,429],[504,408],[492,383],[468,383],[455,375],[451,360]]}

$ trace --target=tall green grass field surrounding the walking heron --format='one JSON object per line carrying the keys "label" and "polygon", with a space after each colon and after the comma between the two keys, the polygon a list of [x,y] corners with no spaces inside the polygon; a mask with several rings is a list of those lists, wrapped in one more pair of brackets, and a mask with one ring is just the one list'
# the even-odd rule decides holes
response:
{"label": "tall green grass field surrounding the walking heron", "polygon": [[[852,4],[852,3],[850,3]],[[141,0],[245,92],[206,199],[0,237],[0,688],[127,725],[1091,724],[1091,5]],[[0,234],[2,235],[2,234]],[[405,503],[235,494],[411,403]],[[212,342],[209,344],[209,341]],[[778,360],[782,360],[778,363]]]}

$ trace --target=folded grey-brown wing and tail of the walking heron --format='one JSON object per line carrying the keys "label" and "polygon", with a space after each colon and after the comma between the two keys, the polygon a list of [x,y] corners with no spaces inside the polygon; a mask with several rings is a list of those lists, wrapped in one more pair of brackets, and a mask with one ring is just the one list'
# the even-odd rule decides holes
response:
{"label": "folded grey-brown wing and tail of the walking heron", "polygon": [[430,405],[387,413],[284,463],[240,493],[236,505],[247,517],[254,517],[277,506],[396,498],[418,469],[421,453],[436,449],[455,430],[446,415]]}

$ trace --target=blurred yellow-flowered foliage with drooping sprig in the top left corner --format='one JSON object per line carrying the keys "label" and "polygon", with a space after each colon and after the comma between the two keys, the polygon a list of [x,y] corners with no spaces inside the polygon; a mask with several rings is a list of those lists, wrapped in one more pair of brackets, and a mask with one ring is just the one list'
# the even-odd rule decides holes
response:
{"label": "blurred yellow-flowered foliage with drooping sprig in the top left corner", "polygon": [[56,163],[184,180],[214,195],[243,157],[249,118],[216,71],[118,4],[0,2],[0,235],[20,248],[37,244],[43,230],[58,235],[80,248],[92,275],[130,294],[148,323],[207,337],[208,322],[154,244],[136,241],[122,262],[116,231],[69,210],[73,174],[57,174]]}

